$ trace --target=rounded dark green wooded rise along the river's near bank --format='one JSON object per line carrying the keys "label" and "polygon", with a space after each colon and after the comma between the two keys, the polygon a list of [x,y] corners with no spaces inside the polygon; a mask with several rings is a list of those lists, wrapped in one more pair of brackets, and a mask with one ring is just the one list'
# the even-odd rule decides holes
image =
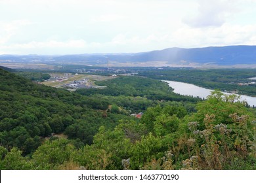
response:
{"label": "rounded dark green wooded rise along the river's near bank", "polygon": [[167,100],[167,101],[199,101],[192,97],[184,97],[171,92],[171,88],[158,80],[151,78],[143,78],[136,76],[120,76],[112,80],[97,81],[95,84],[99,86],[107,86],[104,90],[101,89],[80,89],[77,93],[82,95],[110,95],[110,96],[132,96],[146,97],[150,100]]}

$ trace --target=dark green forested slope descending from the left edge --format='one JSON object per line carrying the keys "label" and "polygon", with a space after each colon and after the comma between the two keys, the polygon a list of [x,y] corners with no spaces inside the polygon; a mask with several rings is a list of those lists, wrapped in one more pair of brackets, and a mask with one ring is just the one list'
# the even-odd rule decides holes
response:
{"label": "dark green forested slope descending from the left edge", "polygon": [[18,147],[23,154],[35,151],[52,133],[79,137],[77,145],[91,144],[100,125],[114,127],[119,119],[128,118],[103,118],[110,105],[104,100],[35,84],[3,69],[0,81],[0,145]]}

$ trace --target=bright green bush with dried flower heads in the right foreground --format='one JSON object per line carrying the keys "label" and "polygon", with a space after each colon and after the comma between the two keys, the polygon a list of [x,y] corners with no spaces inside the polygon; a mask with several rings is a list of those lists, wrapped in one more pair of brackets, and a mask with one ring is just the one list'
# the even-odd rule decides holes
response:
{"label": "bright green bush with dried flower heads in the right foreground", "polygon": [[187,130],[176,140],[178,146],[172,148],[175,161],[180,161],[179,157],[185,159],[177,167],[255,169],[254,152],[250,152],[255,116],[232,98],[213,92],[207,101],[198,104],[198,112],[186,119],[190,122],[182,128]]}

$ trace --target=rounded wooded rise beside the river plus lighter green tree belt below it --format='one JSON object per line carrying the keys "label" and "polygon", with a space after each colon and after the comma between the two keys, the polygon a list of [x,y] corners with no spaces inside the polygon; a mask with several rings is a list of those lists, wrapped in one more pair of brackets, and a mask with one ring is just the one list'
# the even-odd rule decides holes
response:
{"label": "rounded wooded rise beside the river plus lighter green tree belt below it", "polygon": [[182,105],[191,112],[195,110],[194,104],[202,100],[198,97],[186,97],[174,93],[164,82],[145,77],[121,76],[112,80],[97,81],[95,84],[107,88],[79,89],[76,93],[105,99],[108,103],[115,103],[131,112],[141,112],[159,103]]}

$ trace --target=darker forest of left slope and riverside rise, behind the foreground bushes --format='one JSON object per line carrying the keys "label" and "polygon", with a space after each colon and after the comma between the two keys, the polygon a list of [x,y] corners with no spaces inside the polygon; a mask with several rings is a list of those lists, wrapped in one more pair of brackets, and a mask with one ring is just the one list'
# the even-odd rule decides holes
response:
{"label": "darker forest of left slope and riverside rise, behind the foreground bushes", "polygon": [[142,77],[116,78],[116,84],[114,80],[106,83],[106,90],[80,92],[36,84],[3,69],[0,81],[0,145],[18,147],[24,155],[34,152],[53,133],[74,139],[75,146],[91,144],[100,126],[113,129],[119,120],[135,120],[131,112],[156,106],[159,100],[199,101]]}

